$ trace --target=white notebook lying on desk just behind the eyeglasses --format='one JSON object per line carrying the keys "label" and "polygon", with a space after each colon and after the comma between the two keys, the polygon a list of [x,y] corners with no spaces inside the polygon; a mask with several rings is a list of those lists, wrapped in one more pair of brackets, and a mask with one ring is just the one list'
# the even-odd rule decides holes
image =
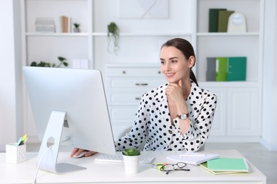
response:
{"label": "white notebook lying on desk just behind the eyeglasses", "polygon": [[166,156],[166,159],[168,161],[174,161],[174,162],[184,162],[192,165],[198,165],[200,163],[203,163],[205,161],[209,161],[210,159],[217,159],[219,158],[218,154],[200,154],[195,152],[187,152],[184,154],[175,154]]}

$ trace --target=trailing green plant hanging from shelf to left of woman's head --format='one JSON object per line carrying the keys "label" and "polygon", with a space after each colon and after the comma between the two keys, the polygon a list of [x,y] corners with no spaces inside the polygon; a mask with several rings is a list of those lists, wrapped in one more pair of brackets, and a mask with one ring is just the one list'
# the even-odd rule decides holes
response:
{"label": "trailing green plant hanging from shelf to left of woman's head", "polygon": [[108,51],[110,43],[114,42],[114,52],[116,53],[119,50],[119,27],[116,23],[112,22],[108,25]]}

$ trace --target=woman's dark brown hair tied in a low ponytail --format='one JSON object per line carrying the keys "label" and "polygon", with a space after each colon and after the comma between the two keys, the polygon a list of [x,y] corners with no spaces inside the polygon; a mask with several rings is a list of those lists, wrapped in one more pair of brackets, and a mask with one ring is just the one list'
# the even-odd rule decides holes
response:
{"label": "woman's dark brown hair tied in a low ponytail", "polygon": [[[188,40],[185,40],[183,38],[173,38],[172,40],[168,40],[162,45],[162,47],[164,46],[173,46],[177,48],[184,54],[186,59],[189,59],[191,56],[195,57],[195,51],[193,50],[192,45],[190,44],[190,42],[188,42]],[[194,65],[195,64],[193,64],[193,66]],[[190,68],[190,79],[192,79],[192,81],[194,81],[195,84],[198,86],[197,79],[192,71],[192,68]]]}

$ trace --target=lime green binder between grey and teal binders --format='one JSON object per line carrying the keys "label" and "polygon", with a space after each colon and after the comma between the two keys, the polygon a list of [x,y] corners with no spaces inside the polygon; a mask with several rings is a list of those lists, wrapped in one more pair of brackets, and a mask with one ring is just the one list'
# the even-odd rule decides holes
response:
{"label": "lime green binder between grey and teal binders", "polygon": [[227,81],[227,60],[228,57],[216,58],[215,81]]}

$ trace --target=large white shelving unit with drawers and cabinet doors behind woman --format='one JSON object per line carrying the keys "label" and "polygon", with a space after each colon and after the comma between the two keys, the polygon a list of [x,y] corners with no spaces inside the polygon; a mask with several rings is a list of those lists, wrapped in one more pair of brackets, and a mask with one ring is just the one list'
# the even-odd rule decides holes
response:
{"label": "large white shelving unit with drawers and cabinet doors behind woman", "polygon": [[[102,71],[113,124],[128,125],[134,120],[142,93],[165,82],[158,73],[161,44],[171,38],[185,38],[195,48],[194,70],[200,86],[218,96],[210,140],[259,140],[261,113],[256,112],[261,112],[264,0],[170,0],[169,16],[161,19],[119,18],[120,2],[21,1],[23,65],[41,60],[58,62],[57,57],[62,56],[71,67],[73,59],[88,59],[90,69]],[[247,32],[208,33],[209,8],[244,13]],[[80,23],[81,33],[60,33],[60,16]],[[57,33],[35,33],[37,17],[55,18]],[[107,50],[107,25],[111,22],[120,29],[116,53]],[[246,81],[207,82],[206,57],[219,56],[246,56]],[[26,91],[23,98],[24,131],[36,137]]]}

